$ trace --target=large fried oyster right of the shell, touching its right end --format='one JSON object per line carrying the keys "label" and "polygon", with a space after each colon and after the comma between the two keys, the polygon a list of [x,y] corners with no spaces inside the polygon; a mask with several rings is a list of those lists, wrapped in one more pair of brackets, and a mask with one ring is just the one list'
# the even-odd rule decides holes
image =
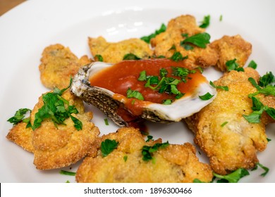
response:
{"label": "large fried oyster right of the shell, touching its right end", "polygon": [[195,143],[207,154],[218,174],[255,167],[257,151],[264,151],[267,146],[264,121],[249,123],[243,117],[252,113],[248,94],[257,91],[249,77],[259,80],[259,74],[252,68],[226,73],[214,84],[227,86],[229,91],[217,89],[212,103],[185,120],[195,132]]}

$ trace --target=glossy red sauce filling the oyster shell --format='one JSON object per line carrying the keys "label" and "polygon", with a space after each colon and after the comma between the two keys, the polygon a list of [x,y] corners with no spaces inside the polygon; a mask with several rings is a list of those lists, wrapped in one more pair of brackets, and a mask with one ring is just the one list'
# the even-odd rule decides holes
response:
{"label": "glossy red sauce filling the oyster shell", "polygon": [[[147,103],[163,103],[164,100],[175,99],[176,96],[167,93],[160,94],[156,90],[145,87],[145,81],[138,81],[140,72],[146,70],[147,76],[159,76],[159,70],[165,68],[168,71],[166,77],[178,78],[178,80],[180,80],[181,77],[171,75],[171,66],[184,67],[182,62],[175,62],[169,59],[122,61],[92,76],[90,78],[90,84],[113,91],[116,93],[114,95],[116,100],[126,101],[123,102],[126,108],[128,108],[133,115],[140,115],[142,108],[146,106]],[[205,81],[205,77],[197,70],[197,72],[189,74],[187,82],[179,83],[177,88],[187,96],[188,94],[192,94],[201,82]],[[145,98],[145,101],[140,101],[137,98],[126,98],[128,88],[139,91]]]}

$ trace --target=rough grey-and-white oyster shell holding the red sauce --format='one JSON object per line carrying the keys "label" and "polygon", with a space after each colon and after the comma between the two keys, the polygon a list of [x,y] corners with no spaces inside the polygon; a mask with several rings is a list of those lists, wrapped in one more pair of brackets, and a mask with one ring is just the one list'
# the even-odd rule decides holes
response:
{"label": "rough grey-and-white oyster shell holding the red sauce", "polygon": [[[112,66],[111,63],[94,62],[90,65],[85,65],[73,77],[71,91],[76,96],[82,98],[86,103],[92,104],[101,110],[105,115],[111,118],[118,126],[128,126],[129,122],[140,120],[150,120],[153,122],[178,122],[185,117],[197,113],[204,106],[207,106],[214,100],[216,96],[216,89],[209,85],[209,82],[200,83],[199,87],[189,96],[173,101],[171,105],[164,105],[159,103],[150,103],[142,108],[140,115],[133,115],[130,110],[126,108],[126,99],[114,98],[114,92],[101,87],[94,87],[90,85],[90,77],[104,68]],[[207,101],[202,101],[199,96],[207,94],[214,95]],[[118,111],[123,110],[127,113],[127,120],[121,116]],[[129,119],[130,117],[130,119]]]}

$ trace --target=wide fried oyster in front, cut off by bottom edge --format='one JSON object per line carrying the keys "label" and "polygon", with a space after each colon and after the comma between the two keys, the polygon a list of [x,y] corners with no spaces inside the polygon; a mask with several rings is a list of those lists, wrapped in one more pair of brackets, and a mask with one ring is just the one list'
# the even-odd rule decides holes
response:
{"label": "wide fried oyster in front, cut off by bottom edge", "polygon": [[[118,147],[102,157],[100,144],[115,139]],[[203,182],[212,180],[209,165],[200,163],[195,147],[170,144],[154,152],[154,161],[142,160],[142,146],[161,143],[161,139],[145,142],[138,129],[123,127],[102,136],[76,173],[77,182]]]}

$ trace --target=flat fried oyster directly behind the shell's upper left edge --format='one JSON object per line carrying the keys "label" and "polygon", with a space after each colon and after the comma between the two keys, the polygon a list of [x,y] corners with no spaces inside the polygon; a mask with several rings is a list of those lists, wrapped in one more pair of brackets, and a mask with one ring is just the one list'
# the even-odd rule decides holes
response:
{"label": "flat fried oyster directly behind the shell's upper left edge", "polygon": [[96,55],[101,55],[106,63],[118,63],[128,53],[133,53],[138,58],[146,59],[152,56],[149,44],[141,39],[126,39],[121,42],[106,42],[104,37],[91,38],[88,40],[90,51],[95,61]]}

